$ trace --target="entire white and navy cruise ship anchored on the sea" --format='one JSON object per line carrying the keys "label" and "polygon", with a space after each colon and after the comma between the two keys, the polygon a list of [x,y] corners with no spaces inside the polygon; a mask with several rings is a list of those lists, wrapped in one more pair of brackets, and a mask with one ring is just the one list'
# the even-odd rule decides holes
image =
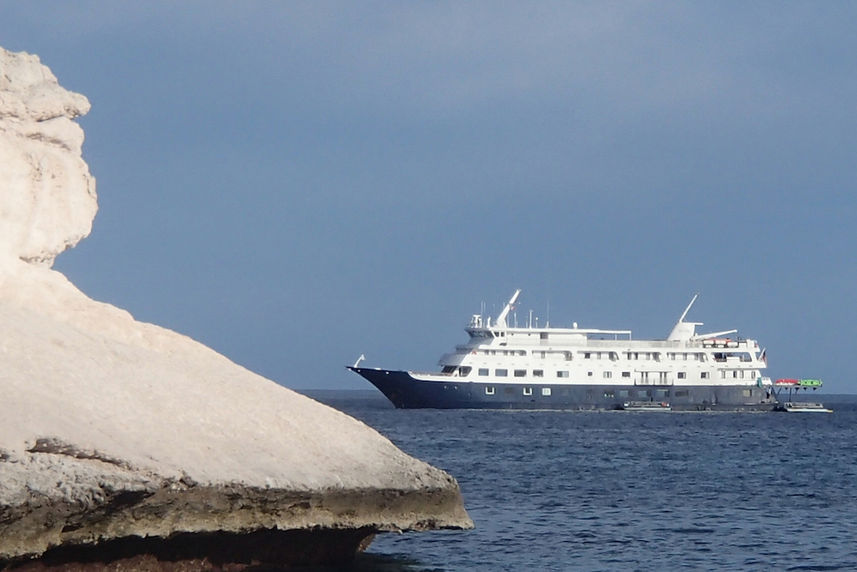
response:
{"label": "entire white and navy cruise ship anchored on the sea", "polygon": [[[772,410],[765,350],[737,330],[696,333],[685,318],[669,336],[635,340],[630,330],[510,326],[517,290],[492,320],[475,314],[466,344],[421,373],[360,367],[402,408]],[[361,356],[362,357],[362,356]],[[651,404],[646,406],[645,404]]]}

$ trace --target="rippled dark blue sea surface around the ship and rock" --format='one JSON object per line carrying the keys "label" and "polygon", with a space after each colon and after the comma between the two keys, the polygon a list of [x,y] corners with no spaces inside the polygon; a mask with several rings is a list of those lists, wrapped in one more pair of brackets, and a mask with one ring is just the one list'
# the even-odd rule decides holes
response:
{"label": "rippled dark blue sea surface around the ship and rock", "polygon": [[306,392],[443,468],[472,531],[351,570],[857,570],[857,396],[833,414],[398,410]]}

